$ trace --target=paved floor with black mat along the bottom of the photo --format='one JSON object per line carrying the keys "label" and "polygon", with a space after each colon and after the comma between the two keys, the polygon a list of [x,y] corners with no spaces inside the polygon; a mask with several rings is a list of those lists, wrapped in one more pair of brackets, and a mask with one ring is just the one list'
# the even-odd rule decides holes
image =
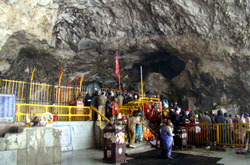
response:
{"label": "paved floor with black mat along the bottom of the photo", "polygon": [[[122,164],[226,164],[226,165],[249,165],[250,153],[246,155],[236,154],[236,149],[227,149],[226,152],[210,151],[195,148],[191,150],[175,151],[175,160],[161,159],[160,151],[153,150],[146,153],[127,156],[127,163]],[[103,151],[98,149],[78,150],[62,153],[62,165],[91,165],[108,164],[102,161]],[[134,158],[134,159],[133,159]],[[183,161],[185,160],[185,161]]]}

